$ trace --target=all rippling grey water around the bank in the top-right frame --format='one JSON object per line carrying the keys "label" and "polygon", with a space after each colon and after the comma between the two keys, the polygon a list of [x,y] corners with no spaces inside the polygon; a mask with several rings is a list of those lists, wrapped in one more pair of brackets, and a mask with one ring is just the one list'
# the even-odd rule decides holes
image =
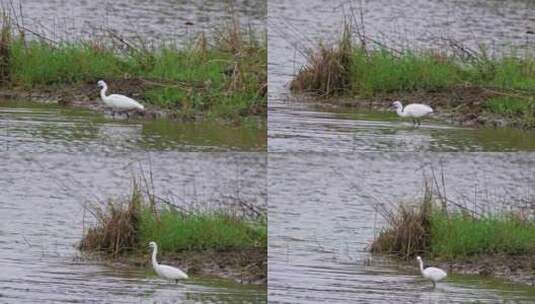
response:
{"label": "all rippling grey water around the bank in the top-right frame", "polygon": [[[533,151],[535,132],[492,128],[458,128],[410,122],[392,116],[371,119],[367,113],[319,110],[288,96],[288,83],[305,63],[301,51],[316,41],[340,35],[344,14],[362,8],[368,35],[396,47],[437,47],[441,37],[491,52],[511,46],[532,48],[535,19],[532,1],[270,1],[268,7],[269,114],[268,150],[323,151]],[[345,13],[344,13],[345,12]],[[299,99],[299,98],[297,98]],[[425,101],[422,101],[425,102]],[[379,115],[379,114],[378,114]],[[374,115],[376,116],[376,115]]]}

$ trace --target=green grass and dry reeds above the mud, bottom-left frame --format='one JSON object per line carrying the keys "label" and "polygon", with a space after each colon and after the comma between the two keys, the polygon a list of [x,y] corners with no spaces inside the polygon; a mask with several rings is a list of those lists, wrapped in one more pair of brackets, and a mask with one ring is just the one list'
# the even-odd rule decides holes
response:
{"label": "green grass and dry reeds above the mud, bottom-left frame", "polygon": [[[149,196],[154,197],[154,196]],[[126,201],[109,201],[91,212],[97,224],[89,228],[79,248],[119,256],[145,252],[155,241],[165,252],[267,249],[265,216],[238,216],[242,210],[196,211],[173,206],[157,208],[134,184]]]}

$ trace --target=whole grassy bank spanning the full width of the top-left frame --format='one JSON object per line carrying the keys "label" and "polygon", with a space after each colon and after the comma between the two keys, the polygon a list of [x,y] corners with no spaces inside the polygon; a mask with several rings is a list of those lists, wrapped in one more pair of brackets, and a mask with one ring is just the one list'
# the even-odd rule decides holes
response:
{"label": "whole grassy bank spanning the full width of the top-left frame", "polygon": [[210,39],[200,33],[180,46],[132,43],[112,32],[104,42],[55,43],[26,39],[4,16],[0,86],[56,91],[58,98],[68,95],[64,99],[72,95],[96,99],[96,82],[104,79],[111,91],[129,94],[149,108],[165,109],[181,119],[264,117],[265,38],[242,30],[236,20],[221,28],[210,33]]}

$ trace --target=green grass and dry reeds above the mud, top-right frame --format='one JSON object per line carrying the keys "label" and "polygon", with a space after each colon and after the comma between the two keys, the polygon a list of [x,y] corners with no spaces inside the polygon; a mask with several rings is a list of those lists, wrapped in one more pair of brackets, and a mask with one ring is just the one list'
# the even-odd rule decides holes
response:
{"label": "green grass and dry reeds above the mud, top-right frame", "polygon": [[535,58],[469,59],[451,50],[370,49],[352,41],[351,27],[333,46],[319,44],[291,83],[297,92],[319,95],[440,91],[455,86],[480,86],[535,94]]}

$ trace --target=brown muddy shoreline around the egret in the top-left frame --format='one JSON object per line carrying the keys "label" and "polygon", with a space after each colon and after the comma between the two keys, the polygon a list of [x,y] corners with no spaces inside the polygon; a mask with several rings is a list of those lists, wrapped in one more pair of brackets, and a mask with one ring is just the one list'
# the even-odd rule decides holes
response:
{"label": "brown muddy shoreline around the egret in the top-left frame", "polygon": [[[109,81],[107,94],[122,94],[140,101],[145,107],[143,112],[130,112],[130,119],[159,119],[166,118],[178,121],[201,122],[206,119],[204,113],[195,117],[180,115],[179,109],[165,109],[157,105],[148,104],[143,100],[143,92],[154,83],[142,79],[120,79]],[[0,99],[24,100],[43,104],[57,104],[65,107],[83,108],[109,115],[111,111],[100,99],[100,88],[95,83],[61,84],[50,86],[38,86],[32,89],[0,87]],[[261,120],[260,115],[250,117]],[[127,119],[124,114],[116,114],[116,119]],[[216,119],[220,123],[235,124],[236,122]]]}

